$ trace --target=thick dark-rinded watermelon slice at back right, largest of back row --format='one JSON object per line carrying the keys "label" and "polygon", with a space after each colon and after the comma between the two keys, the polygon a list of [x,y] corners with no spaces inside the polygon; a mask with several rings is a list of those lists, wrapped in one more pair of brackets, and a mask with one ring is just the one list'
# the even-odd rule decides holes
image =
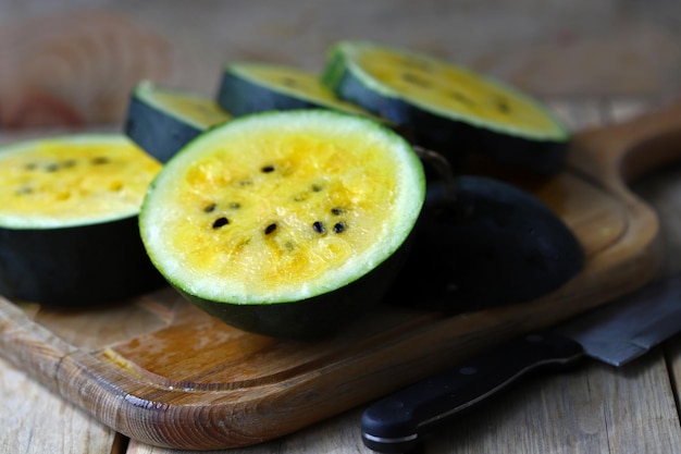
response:
{"label": "thick dark-rinded watermelon slice at back right, largest of back row", "polygon": [[542,173],[561,170],[570,134],[530,95],[436,57],[337,42],[322,74],[339,98],[392,121],[453,162],[479,154]]}

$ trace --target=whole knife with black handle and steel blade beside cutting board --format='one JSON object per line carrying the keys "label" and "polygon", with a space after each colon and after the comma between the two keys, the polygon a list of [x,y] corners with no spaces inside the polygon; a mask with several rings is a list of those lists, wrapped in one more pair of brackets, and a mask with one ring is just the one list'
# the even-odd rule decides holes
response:
{"label": "whole knife with black handle and steel blade beside cutting board", "polygon": [[681,274],[657,281],[585,316],[518,338],[371,404],[363,444],[404,453],[421,438],[530,372],[592,357],[622,366],[681,331]]}

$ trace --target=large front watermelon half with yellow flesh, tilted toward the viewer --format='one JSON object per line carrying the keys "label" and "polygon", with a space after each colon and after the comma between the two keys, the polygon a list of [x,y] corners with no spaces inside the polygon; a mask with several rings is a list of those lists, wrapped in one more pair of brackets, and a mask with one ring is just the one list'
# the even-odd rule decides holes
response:
{"label": "large front watermelon half with yellow flesh, tilted toward the viewer", "polygon": [[208,312],[319,336],[381,299],[424,196],[421,161],[379,123],[265,112],[211,128],[170,160],[140,232],[161,273]]}

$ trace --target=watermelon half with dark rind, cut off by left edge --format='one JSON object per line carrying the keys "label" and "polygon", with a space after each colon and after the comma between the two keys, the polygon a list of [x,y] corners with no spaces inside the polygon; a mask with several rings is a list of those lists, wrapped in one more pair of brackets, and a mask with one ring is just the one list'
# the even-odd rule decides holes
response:
{"label": "watermelon half with dark rind, cut off by left edge", "polygon": [[54,306],[163,283],[137,229],[161,164],[127,137],[81,134],[0,149],[0,294]]}

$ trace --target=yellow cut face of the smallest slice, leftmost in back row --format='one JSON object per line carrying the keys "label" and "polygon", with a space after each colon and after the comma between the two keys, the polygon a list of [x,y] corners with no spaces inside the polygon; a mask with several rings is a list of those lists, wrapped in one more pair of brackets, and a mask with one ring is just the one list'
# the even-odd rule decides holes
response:
{"label": "yellow cut face of the smallest slice, leftmost in back row", "polygon": [[174,112],[196,127],[205,130],[231,119],[212,99],[203,99],[170,90],[156,89],[144,94],[147,99],[164,112]]}

